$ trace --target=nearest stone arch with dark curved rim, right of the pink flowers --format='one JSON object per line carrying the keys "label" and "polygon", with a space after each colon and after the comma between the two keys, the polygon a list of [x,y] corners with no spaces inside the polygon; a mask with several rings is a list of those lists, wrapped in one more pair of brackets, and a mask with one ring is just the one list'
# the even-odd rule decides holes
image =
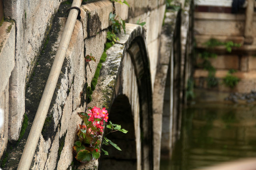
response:
{"label": "nearest stone arch with dark curved rim, right of the pink flowers", "polygon": [[[130,28],[133,28],[130,30]],[[129,33],[129,31],[131,31]],[[122,58],[120,60],[119,71],[115,79],[114,94],[112,105],[110,106],[110,114],[113,108],[117,108],[115,104],[120,101],[121,104],[130,105],[131,115],[134,124],[134,136],[136,143],[136,167],[137,170],[153,169],[153,128],[152,128],[152,87],[149,70],[149,59],[147,55],[146,44],[144,41],[144,31],[142,27],[127,24],[127,34],[120,37],[120,43],[115,44],[111,48],[123,49]],[[123,41],[122,38],[126,39]],[[123,46],[120,46],[123,44]],[[109,49],[109,53],[114,52]],[[118,50],[115,50],[117,52]],[[108,51],[107,51],[108,54]],[[103,67],[103,65],[102,65]],[[126,108],[122,106],[121,108]],[[119,124],[120,120],[117,120]],[[121,121],[120,121],[121,124]],[[100,164],[103,162],[103,156]],[[122,166],[123,167],[123,166]],[[106,166],[104,166],[104,169]],[[112,170],[113,167],[111,167]],[[120,167],[119,167],[120,168]],[[124,168],[124,167],[123,167]],[[122,168],[122,169],[123,169]]]}

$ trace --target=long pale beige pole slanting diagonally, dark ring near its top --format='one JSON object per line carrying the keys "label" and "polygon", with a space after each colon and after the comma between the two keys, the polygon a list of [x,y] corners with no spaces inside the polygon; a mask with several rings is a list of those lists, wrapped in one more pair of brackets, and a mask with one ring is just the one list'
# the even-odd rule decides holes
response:
{"label": "long pale beige pole slanting diagonally, dark ring near its top", "polygon": [[[81,3],[82,3],[82,0],[73,0],[72,7],[80,7]],[[44,126],[46,115],[49,110],[50,103],[55,91],[58,77],[64,62],[64,58],[66,55],[68,44],[71,39],[71,35],[73,32],[77,15],[78,15],[77,9],[73,8],[70,10],[66,25],[64,27],[64,31],[59,43],[59,47],[56,52],[53,65],[46,82],[46,87],[43,92],[41,101],[39,103],[37,113],[33,121],[31,130],[29,132],[27,143],[23,150],[17,170],[29,170],[30,168],[32,159],[34,157],[34,154],[37,148],[38,140],[41,135],[42,128]]]}

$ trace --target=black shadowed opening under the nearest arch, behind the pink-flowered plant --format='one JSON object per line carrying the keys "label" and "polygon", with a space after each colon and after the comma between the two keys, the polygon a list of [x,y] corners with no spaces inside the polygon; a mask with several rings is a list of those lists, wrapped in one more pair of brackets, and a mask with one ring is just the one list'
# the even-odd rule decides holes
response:
{"label": "black shadowed opening under the nearest arch, behind the pink-flowered plant", "polygon": [[102,148],[109,152],[109,156],[101,154],[99,170],[136,170],[134,119],[128,97],[125,95],[116,97],[109,113],[109,120],[112,123],[121,125],[122,128],[128,130],[128,133],[114,132],[106,136],[117,144],[122,151],[114,149],[113,146],[103,145]]}

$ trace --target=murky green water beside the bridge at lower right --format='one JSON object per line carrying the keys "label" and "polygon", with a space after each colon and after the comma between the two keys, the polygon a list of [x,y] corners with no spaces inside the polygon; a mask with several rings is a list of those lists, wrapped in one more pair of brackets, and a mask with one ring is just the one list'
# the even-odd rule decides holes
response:
{"label": "murky green water beside the bridge at lower right", "polygon": [[183,111],[181,137],[160,170],[193,170],[256,157],[256,106],[197,103]]}

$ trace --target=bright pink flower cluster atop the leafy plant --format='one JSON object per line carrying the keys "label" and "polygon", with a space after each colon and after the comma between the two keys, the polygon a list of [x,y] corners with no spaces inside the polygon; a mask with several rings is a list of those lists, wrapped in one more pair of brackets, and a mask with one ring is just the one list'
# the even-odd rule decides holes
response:
{"label": "bright pink flower cluster atop the leafy plant", "polygon": [[106,108],[103,108],[102,110],[100,108],[97,108],[96,106],[94,106],[94,108],[89,110],[90,113],[88,113],[88,115],[90,116],[90,118],[88,119],[88,121],[92,122],[94,127],[97,127],[98,129],[100,129],[100,132],[103,132],[103,127],[102,125],[108,121],[109,117],[109,113],[106,110]]}

